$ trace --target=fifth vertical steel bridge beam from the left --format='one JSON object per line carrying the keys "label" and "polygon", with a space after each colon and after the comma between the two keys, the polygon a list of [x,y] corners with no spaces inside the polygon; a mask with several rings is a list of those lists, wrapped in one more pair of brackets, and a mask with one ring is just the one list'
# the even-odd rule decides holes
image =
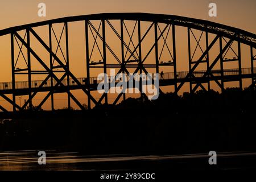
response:
{"label": "fifth vertical steel bridge beam from the left", "polygon": [[88,109],[90,109],[90,58],[89,58],[89,34],[88,34],[88,22],[85,20],[85,52],[86,52],[86,87],[88,91]]}

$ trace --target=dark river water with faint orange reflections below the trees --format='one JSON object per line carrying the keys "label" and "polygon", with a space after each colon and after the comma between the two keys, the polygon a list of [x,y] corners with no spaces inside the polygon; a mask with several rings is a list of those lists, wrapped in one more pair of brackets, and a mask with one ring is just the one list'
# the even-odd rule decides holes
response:
{"label": "dark river water with faint orange reflections below the trees", "polygon": [[[132,169],[206,169],[208,154],[185,155],[80,155],[78,152],[46,151],[46,165],[38,164],[39,151],[0,152],[0,171],[98,171]],[[255,168],[256,152],[217,154],[218,169]]]}

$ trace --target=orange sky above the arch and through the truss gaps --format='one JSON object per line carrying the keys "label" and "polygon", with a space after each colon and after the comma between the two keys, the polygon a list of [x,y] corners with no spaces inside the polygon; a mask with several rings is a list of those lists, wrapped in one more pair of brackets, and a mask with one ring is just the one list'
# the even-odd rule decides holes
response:
{"label": "orange sky above the arch and through the truss gaps", "polygon": [[[38,3],[44,2],[47,6],[47,16],[45,18],[40,18],[37,15],[38,12]],[[217,4],[217,17],[208,16],[208,5],[210,2]],[[103,1],[103,0],[94,0],[94,1],[5,1],[0,2],[0,29],[18,26],[21,24],[39,22],[47,19],[61,18],[64,16],[74,16],[74,15],[84,15],[84,14],[96,14],[96,13],[118,13],[118,12],[141,12],[141,13],[158,13],[158,14],[173,14],[180,16],[188,16],[191,18],[205,19],[212,22],[217,22],[221,24],[226,24],[229,26],[241,28],[243,30],[256,32],[256,2],[255,1],[170,1],[170,0],[158,0],[158,1],[146,1],[146,0],[130,0],[130,1]],[[3,18],[4,17],[4,18]],[[97,23],[96,23],[97,24]],[[113,22],[114,24],[114,22]],[[129,23],[127,23],[129,24]],[[130,23],[132,24],[132,23]],[[69,24],[69,51],[70,51],[70,61],[71,61],[71,71],[77,77],[86,77],[86,68],[85,68],[85,52],[84,52],[84,23],[76,22]],[[56,34],[60,34],[61,26],[55,25]],[[42,38],[45,38],[47,42],[47,27],[45,28],[35,28],[35,31],[38,32]],[[185,28],[176,28],[178,32],[176,35],[177,41],[177,69],[178,71],[187,71],[188,70],[188,56],[187,56],[187,39]],[[195,32],[196,35],[200,35],[200,32]],[[22,34],[20,34],[22,35]],[[114,34],[110,35],[107,38],[113,40]],[[211,38],[211,37],[210,37]],[[213,36],[212,36],[213,38]],[[115,38],[114,38],[115,39]],[[203,38],[204,39],[204,38]],[[37,53],[48,61],[48,55],[42,47],[38,46],[34,40],[31,40],[31,44],[34,43]],[[114,42],[114,41],[112,41]],[[150,38],[146,40],[147,43],[152,42]],[[117,48],[118,45],[115,43],[109,43],[112,45],[113,49]],[[192,43],[193,44],[193,43]],[[10,63],[10,35],[0,37],[0,82],[11,81],[11,63]],[[56,44],[53,43],[53,47],[56,47]],[[172,46],[170,46],[172,47]],[[217,49],[217,47],[215,48]],[[25,49],[24,49],[25,50]],[[16,49],[15,51],[18,51]],[[63,48],[65,51],[65,48]],[[145,52],[145,51],[144,51]],[[143,53],[144,53],[143,52]],[[214,50],[213,50],[214,52]],[[217,51],[216,51],[217,52]],[[60,53],[60,52],[59,52]],[[200,53],[200,52],[199,52]],[[118,54],[118,51],[117,51]],[[58,54],[58,56],[61,56]],[[152,55],[154,57],[154,55]],[[164,56],[166,54],[164,53]],[[230,54],[230,57],[232,54]],[[164,58],[164,57],[163,57]],[[99,55],[95,55],[95,60],[99,60]],[[168,57],[166,56],[166,60]],[[39,68],[39,64],[36,64],[32,67]],[[150,61],[150,58],[149,58]],[[111,61],[110,61],[111,62]],[[242,67],[249,67],[249,49],[246,46],[242,46]],[[22,64],[20,65],[22,67]],[[237,65],[227,65],[226,68],[237,67]],[[204,67],[201,67],[204,69]],[[162,69],[164,72],[171,72],[170,69]],[[93,72],[93,76],[101,72]],[[26,80],[25,77],[16,77],[16,80]],[[43,77],[34,77],[33,80],[40,80]],[[227,84],[229,86],[229,84]],[[234,86],[233,83],[230,86]],[[237,85],[235,85],[237,86]],[[246,86],[246,85],[244,85]],[[170,88],[166,88],[166,91]],[[184,90],[183,90],[184,91]],[[80,98],[81,103],[86,103],[86,97],[81,92],[73,92],[77,98]],[[45,94],[39,94],[36,98],[34,105],[38,104],[42,97]],[[98,96],[96,96],[98,97]],[[67,106],[67,97],[66,94],[59,94],[55,97],[55,107],[61,108]],[[22,96],[20,100],[25,100],[27,97]],[[110,100],[113,100],[114,96],[110,96]],[[19,104],[19,98],[17,98],[17,103]],[[11,108],[10,105],[7,105],[6,102],[0,99],[0,104],[5,106],[7,109]],[[72,106],[77,108],[75,104],[72,103]],[[49,101],[44,105],[44,109],[49,109]]]}

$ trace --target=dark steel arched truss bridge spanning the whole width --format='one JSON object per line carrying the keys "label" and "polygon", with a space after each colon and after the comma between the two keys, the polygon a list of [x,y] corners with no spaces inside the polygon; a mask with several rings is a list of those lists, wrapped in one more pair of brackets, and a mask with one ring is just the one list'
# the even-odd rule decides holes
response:
{"label": "dark steel arched truss bridge spanning the whole width", "polygon": [[[112,21],[115,21],[113,23]],[[96,26],[94,22],[99,22]],[[85,32],[85,58],[86,61],[86,76],[83,78],[77,78],[74,73],[69,69],[69,23],[71,22],[84,22]],[[118,23],[117,23],[118,22]],[[127,22],[134,22],[132,31],[127,28]],[[148,26],[144,26],[144,22]],[[62,31],[60,38],[57,38],[53,24],[61,24]],[[48,41],[35,31],[35,28],[47,26]],[[117,37],[119,41],[119,49],[121,55],[118,56],[115,49],[110,46],[107,41],[108,31],[106,27],[109,27]],[[188,52],[188,67],[187,72],[177,72],[177,56],[176,56],[176,27],[187,28],[187,42],[188,44],[185,51]],[[144,31],[143,31],[144,30]],[[25,32],[24,36],[20,35],[20,32]],[[152,44],[147,43],[147,47],[150,47],[148,52],[144,54],[142,52],[143,43],[152,31],[154,36],[150,36]],[[200,36],[195,35],[195,31],[200,32]],[[125,39],[125,34],[128,39]],[[25,110],[25,109],[40,109],[42,105],[51,97],[51,109],[54,110],[54,94],[55,93],[67,93],[68,95],[68,108],[71,108],[71,99],[81,108],[85,109],[79,100],[71,93],[71,90],[80,89],[88,97],[88,107],[91,108],[93,102],[94,105],[109,104],[108,93],[101,95],[99,100],[96,100],[92,96],[93,90],[97,89],[98,81],[96,77],[92,77],[92,69],[102,69],[102,73],[107,73],[108,69],[118,69],[118,73],[129,75],[131,73],[150,73],[148,69],[154,69],[154,73],[159,73],[159,68],[170,68],[171,72],[165,72],[163,77],[159,80],[159,86],[174,85],[175,93],[184,86],[186,82],[189,83],[190,92],[195,92],[197,89],[209,90],[211,87],[210,81],[216,82],[216,84],[224,92],[224,82],[226,81],[238,81],[239,87],[242,89],[243,78],[250,78],[250,87],[255,87],[256,82],[256,68],[254,63],[256,55],[254,51],[256,48],[256,35],[238,28],[226,26],[224,24],[218,24],[209,22],[207,20],[186,18],[175,15],[162,15],[162,14],[146,14],[146,13],[108,13],[108,14],[94,14],[94,15],[81,15],[71,16],[67,18],[59,18],[53,20],[46,20],[44,22],[31,23],[22,26],[16,26],[7,28],[0,31],[0,36],[10,35],[11,44],[11,73],[12,81],[0,83],[0,96],[13,105],[13,111]],[[61,44],[61,38],[65,35],[64,43]],[[209,35],[213,35],[210,40]],[[48,53],[48,63],[36,53],[36,49],[31,46],[31,36],[33,36],[40,46],[42,46]],[[89,36],[92,39],[89,39]],[[171,37],[171,41],[167,41],[168,36]],[[204,36],[204,41],[203,41]],[[52,42],[57,41],[56,50],[53,49]],[[192,40],[196,42],[195,46],[192,46]],[[160,41],[163,42],[160,45]],[[236,46],[234,46],[236,43]],[[241,59],[241,44],[245,44],[250,47],[250,67],[242,68]],[[218,53],[214,57],[209,56],[209,52],[214,46],[218,47]],[[18,56],[15,56],[15,48],[19,49]],[[61,47],[63,49],[61,49]],[[26,48],[26,53],[22,51],[22,48]],[[170,55],[170,60],[163,61],[161,59],[163,49],[167,49]],[[61,52],[62,56],[57,55],[57,51]],[[65,50],[65,51],[63,51]],[[196,57],[195,52],[199,50],[200,56]],[[93,61],[93,52],[98,51],[102,60]],[[234,53],[233,58],[227,58],[226,53],[232,51]],[[115,63],[110,63],[107,52],[109,52]],[[154,52],[154,63],[148,64],[147,58],[150,53]],[[26,56],[24,56],[26,55]],[[18,68],[17,62],[19,57],[23,57],[26,61],[26,68]],[[33,70],[31,67],[31,56],[34,56],[36,61],[42,67],[43,70]],[[226,62],[236,62],[237,68],[225,69]],[[54,64],[55,63],[55,64]],[[206,65],[206,69],[199,71],[198,68],[201,64]],[[220,69],[215,69],[214,66],[220,64]],[[132,71],[131,71],[132,69]],[[62,74],[58,76],[57,74]],[[19,75],[26,75],[27,81],[16,81],[16,77]],[[44,80],[32,80],[32,75],[46,75]],[[108,81],[109,78],[105,78]],[[162,90],[159,88],[159,92]],[[141,90],[140,90],[141,91]],[[33,99],[39,92],[47,92],[46,97],[40,102],[40,104],[34,108]],[[12,94],[12,98],[7,97],[7,94]],[[141,93],[143,95],[143,93]],[[19,106],[16,104],[16,96],[28,96],[28,100],[24,105]],[[126,99],[125,93],[118,94],[117,98],[112,104],[117,102],[123,97]],[[0,105],[2,111],[7,111]]]}

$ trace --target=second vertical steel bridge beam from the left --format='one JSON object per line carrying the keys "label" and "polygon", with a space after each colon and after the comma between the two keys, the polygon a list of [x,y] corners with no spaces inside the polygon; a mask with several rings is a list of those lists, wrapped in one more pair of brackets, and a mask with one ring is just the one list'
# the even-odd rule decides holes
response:
{"label": "second vertical steel bridge beam from the left", "polygon": [[[27,31],[27,46],[30,47],[30,30]],[[31,91],[31,59],[30,50],[27,49],[27,68],[28,68],[28,98],[29,98],[29,110],[32,110],[32,91]]]}

